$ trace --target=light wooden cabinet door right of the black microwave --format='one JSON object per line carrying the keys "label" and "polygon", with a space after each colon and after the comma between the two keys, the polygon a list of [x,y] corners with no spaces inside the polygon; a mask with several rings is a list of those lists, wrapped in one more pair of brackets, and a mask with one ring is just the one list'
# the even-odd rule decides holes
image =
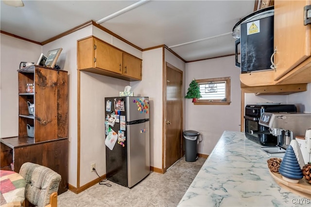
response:
{"label": "light wooden cabinet door right of the black microwave", "polygon": [[274,80],[292,70],[311,55],[311,25],[304,25],[304,6],[310,0],[274,2],[274,45],[276,74]]}

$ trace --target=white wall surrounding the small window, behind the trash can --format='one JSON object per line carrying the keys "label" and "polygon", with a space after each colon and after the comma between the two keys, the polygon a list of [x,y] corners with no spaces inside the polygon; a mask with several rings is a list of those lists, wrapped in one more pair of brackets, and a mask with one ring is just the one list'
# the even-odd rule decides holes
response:
{"label": "white wall surrounding the small window, behind the trash can", "polygon": [[234,61],[234,56],[227,56],[186,64],[186,92],[193,78],[231,77],[230,105],[194,105],[192,99],[186,99],[185,130],[196,130],[201,134],[198,153],[210,154],[224,130],[240,131],[241,72],[234,66]]}

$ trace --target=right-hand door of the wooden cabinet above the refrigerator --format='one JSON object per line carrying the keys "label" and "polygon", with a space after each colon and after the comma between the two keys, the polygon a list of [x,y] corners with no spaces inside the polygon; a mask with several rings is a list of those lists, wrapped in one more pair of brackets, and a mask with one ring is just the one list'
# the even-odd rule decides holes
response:
{"label": "right-hand door of the wooden cabinet above the refrigerator", "polygon": [[141,80],[141,60],[123,53],[123,75]]}

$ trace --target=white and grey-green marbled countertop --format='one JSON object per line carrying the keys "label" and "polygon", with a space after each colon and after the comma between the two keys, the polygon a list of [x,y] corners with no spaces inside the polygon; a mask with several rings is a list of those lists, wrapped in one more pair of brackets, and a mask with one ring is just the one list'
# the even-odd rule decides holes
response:
{"label": "white and grey-green marbled countertop", "polygon": [[309,206],[310,199],[275,182],[267,159],[244,132],[224,131],[178,206]]}

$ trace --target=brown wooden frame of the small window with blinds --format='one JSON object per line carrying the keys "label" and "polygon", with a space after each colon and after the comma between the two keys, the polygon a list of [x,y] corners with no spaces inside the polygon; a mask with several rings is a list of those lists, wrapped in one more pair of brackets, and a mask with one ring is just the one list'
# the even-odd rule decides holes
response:
{"label": "brown wooden frame of the small window with blinds", "polygon": [[222,77],[222,78],[212,78],[212,79],[198,79],[195,80],[198,84],[200,83],[208,83],[208,82],[219,82],[219,81],[225,81],[225,97],[226,101],[220,101],[220,100],[203,100],[197,98],[196,102],[193,102],[194,105],[230,105],[230,83],[231,77]]}

